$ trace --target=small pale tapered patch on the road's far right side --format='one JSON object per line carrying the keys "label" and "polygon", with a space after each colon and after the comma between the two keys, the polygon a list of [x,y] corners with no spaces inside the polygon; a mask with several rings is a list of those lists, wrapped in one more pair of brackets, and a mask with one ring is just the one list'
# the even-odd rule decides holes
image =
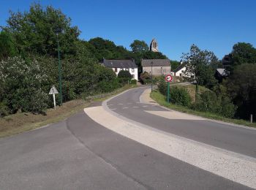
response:
{"label": "small pale tapered patch on the road's far right side", "polygon": [[176,111],[145,111],[145,112],[151,113],[153,115],[157,115],[163,118],[168,118],[168,119],[205,120],[204,118],[200,118],[194,115],[188,115],[186,113],[179,113]]}

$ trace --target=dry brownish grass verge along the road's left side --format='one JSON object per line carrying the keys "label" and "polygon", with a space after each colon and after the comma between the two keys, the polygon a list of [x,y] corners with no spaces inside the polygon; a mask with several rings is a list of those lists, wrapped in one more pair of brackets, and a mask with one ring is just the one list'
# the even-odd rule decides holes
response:
{"label": "dry brownish grass verge along the road's left side", "polygon": [[76,99],[65,102],[61,107],[57,106],[56,110],[50,108],[46,110],[46,115],[33,113],[15,113],[0,118],[0,137],[7,137],[20,132],[26,132],[31,129],[37,129],[40,126],[45,126],[50,123],[56,123],[68,118],[70,115],[78,113],[83,108],[88,107],[91,102],[101,102],[108,99],[110,96],[126,91],[129,88],[135,88],[136,85],[127,85],[116,89],[108,94],[101,94],[100,98],[91,99]]}

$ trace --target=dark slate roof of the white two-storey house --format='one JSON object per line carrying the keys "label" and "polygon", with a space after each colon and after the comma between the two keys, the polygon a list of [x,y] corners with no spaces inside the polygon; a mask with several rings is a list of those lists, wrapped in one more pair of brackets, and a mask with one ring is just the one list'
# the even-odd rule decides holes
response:
{"label": "dark slate roof of the white two-storey house", "polygon": [[110,68],[137,68],[135,61],[132,59],[103,59],[103,65]]}

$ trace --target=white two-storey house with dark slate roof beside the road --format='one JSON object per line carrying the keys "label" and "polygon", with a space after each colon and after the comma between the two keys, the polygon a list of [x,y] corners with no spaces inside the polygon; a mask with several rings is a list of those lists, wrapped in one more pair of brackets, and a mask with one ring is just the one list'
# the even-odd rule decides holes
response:
{"label": "white two-storey house with dark slate roof beside the road", "polygon": [[134,59],[105,59],[103,58],[103,63],[105,67],[113,69],[116,76],[121,70],[127,70],[132,75],[132,79],[138,80],[138,66],[135,64]]}

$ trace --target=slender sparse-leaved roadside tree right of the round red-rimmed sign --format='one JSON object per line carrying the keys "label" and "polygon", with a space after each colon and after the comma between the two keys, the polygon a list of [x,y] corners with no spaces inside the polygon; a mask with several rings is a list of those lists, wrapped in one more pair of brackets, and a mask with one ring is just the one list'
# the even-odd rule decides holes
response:
{"label": "slender sparse-leaved roadside tree right of the round red-rimmed sign", "polygon": [[219,65],[219,60],[213,52],[200,50],[196,45],[192,45],[190,52],[183,53],[181,58],[187,64],[185,76],[187,75],[190,81],[195,81],[195,100],[197,102],[198,85],[211,88],[217,83],[214,72]]}

